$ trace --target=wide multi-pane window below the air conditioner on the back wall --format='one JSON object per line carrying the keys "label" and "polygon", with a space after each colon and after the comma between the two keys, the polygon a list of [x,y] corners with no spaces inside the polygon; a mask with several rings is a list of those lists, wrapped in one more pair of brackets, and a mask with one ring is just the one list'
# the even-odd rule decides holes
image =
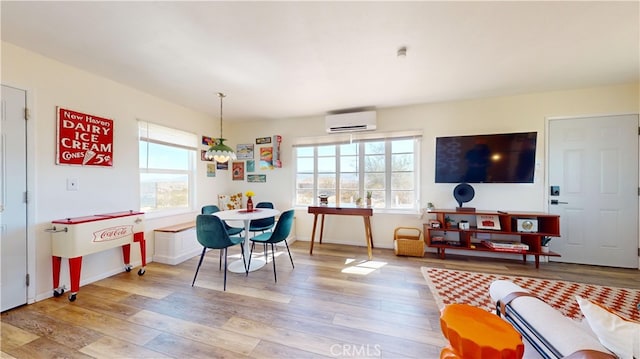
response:
{"label": "wide multi-pane window below the air conditioner on the back wall", "polygon": [[330,203],[357,205],[370,192],[374,208],[416,210],[420,139],[368,136],[294,146],[295,204],[315,205],[319,195],[328,195]]}

